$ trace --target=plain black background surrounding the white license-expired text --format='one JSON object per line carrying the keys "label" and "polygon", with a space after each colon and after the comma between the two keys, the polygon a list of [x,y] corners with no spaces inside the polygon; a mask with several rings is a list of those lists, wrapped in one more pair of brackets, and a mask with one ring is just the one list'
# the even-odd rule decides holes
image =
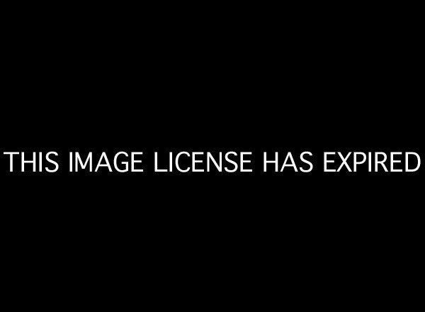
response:
{"label": "plain black background surrounding the white license-expired text", "polygon": [[[324,174],[321,160],[423,157],[411,12],[103,9],[21,8],[5,22],[1,151],[252,150],[256,172],[3,171],[9,294],[262,307],[415,296],[423,169]],[[261,152],[303,150],[312,174],[261,174]]]}

